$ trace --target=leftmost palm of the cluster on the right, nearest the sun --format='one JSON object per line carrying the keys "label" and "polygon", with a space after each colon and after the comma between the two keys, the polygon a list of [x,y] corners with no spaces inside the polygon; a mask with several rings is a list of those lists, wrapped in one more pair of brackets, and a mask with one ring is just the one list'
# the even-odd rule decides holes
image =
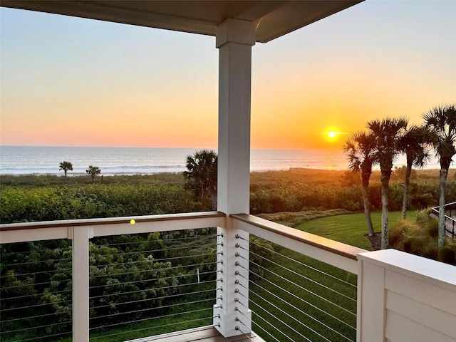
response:
{"label": "leftmost palm of the cluster on the right, nearest the sun", "polygon": [[375,140],[372,134],[364,132],[352,133],[351,138],[346,140],[343,150],[348,156],[348,168],[354,172],[361,172],[363,182],[363,206],[368,226],[368,234],[373,237],[373,225],[371,219],[371,203],[369,203],[368,187],[371,179],[372,166],[375,165]]}

